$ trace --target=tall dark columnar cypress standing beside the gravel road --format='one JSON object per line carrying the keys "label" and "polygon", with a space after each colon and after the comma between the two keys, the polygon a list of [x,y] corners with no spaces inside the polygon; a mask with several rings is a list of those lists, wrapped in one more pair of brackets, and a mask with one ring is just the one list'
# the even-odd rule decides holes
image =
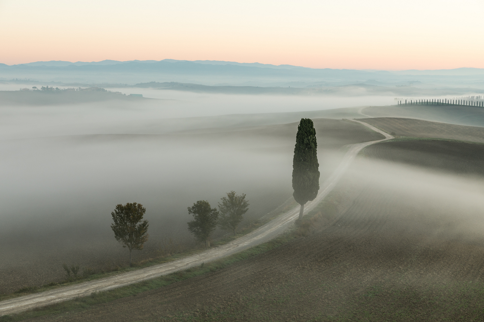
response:
{"label": "tall dark columnar cypress standing beside the gravel road", "polygon": [[294,199],[301,205],[299,219],[302,218],[304,204],[314,200],[319,190],[319,163],[316,130],[311,119],[303,118],[296,134],[294,159],[292,161],[292,188]]}

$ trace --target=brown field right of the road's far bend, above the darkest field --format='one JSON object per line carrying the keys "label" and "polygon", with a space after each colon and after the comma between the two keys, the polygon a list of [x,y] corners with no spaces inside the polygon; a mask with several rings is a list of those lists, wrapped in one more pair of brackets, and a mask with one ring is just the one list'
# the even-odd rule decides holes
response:
{"label": "brown field right of the road's far bend, above the darkest field", "polygon": [[359,120],[376,126],[385,132],[393,132],[397,137],[443,138],[484,142],[484,127],[480,126],[462,126],[398,117],[377,117]]}

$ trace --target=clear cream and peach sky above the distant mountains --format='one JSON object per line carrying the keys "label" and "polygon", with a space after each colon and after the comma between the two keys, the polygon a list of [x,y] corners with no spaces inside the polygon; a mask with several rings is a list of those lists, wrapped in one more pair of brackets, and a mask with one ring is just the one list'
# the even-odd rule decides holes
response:
{"label": "clear cream and peach sky above the distant mountains", "polygon": [[482,0],[0,0],[0,63],[484,68]]}

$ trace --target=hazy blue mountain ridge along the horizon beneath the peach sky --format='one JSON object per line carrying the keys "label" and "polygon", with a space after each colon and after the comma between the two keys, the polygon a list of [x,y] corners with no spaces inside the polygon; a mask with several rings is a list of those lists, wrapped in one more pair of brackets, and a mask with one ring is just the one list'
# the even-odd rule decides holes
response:
{"label": "hazy blue mountain ridge along the horizon beneath the peach sky", "polygon": [[103,60],[98,62],[37,61],[0,64],[0,81],[35,80],[84,84],[138,84],[147,81],[205,85],[337,86],[371,84],[423,85],[427,88],[484,88],[484,69],[350,70],[219,60]]}

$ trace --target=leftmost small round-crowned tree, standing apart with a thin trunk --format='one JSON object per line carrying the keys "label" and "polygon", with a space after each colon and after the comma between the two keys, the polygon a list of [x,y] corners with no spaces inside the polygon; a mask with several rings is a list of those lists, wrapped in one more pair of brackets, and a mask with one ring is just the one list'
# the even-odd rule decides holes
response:
{"label": "leftmost small round-crowned tree, standing apart with a thin trunk", "polygon": [[[117,205],[116,209],[111,212],[114,223],[111,229],[114,232],[114,238],[118,240],[122,247],[129,249],[129,265],[132,265],[131,252],[142,250],[143,244],[148,240],[148,221],[143,220],[146,209],[143,205],[127,203],[126,205]],[[143,221],[142,221],[143,220]]]}

